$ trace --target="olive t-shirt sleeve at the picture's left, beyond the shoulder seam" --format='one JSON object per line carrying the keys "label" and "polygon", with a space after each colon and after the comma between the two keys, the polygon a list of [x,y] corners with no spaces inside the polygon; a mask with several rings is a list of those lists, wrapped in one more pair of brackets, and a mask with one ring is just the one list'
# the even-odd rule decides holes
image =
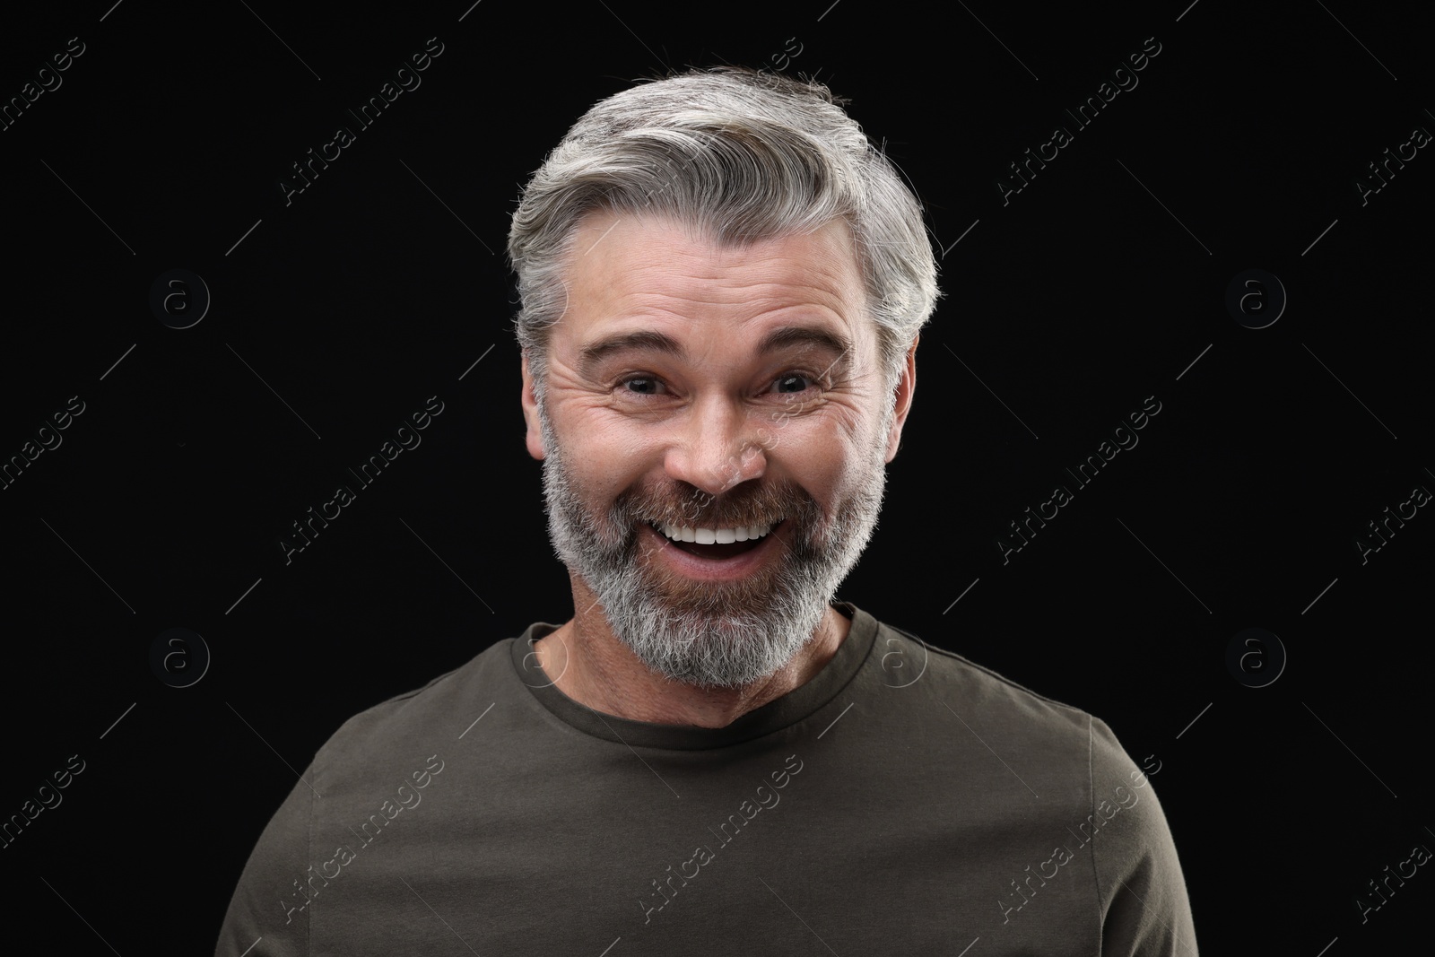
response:
{"label": "olive t-shirt sleeve at the picture's left, beyond the shoulder seam", "polygon": [[304,895],[314,792],[311,769],[288,792],[264,828],[240,875],[220,928],[215,957],[304,957],[309,908]]}

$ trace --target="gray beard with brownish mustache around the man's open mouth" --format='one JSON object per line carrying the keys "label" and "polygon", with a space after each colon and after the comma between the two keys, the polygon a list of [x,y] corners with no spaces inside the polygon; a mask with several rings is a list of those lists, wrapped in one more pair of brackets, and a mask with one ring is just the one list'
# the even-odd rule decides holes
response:
{"label": "gray beard with brownish mustache around the man's open mouth", "polygon": [[[885,435],[874,443],[857,491],[827,519],[795,485],[745,495],[761,499],[772,518],[786,517],[781,535],[788,554],[772,570],[739,583],[693,583],[644,561],[639,525],[677,515],[707,527],[709,515],[736,515],[730,496],[699,489],[624,492],[607,515],[580,498],[563,449],[538,403],[544,439],[544,498],[548,535],[558,558],[593,590],[613,634],[649,670],[699,687],[738,689],[769,679],[817,634],[838,585],[871,539],[887,482]],[[891,420],[891,412],[885,416]],[[710,522],[730,525],[736,522]],[[779,542],[773,542],[778,545]],[[578,611],[574,608],[574,611]]]}

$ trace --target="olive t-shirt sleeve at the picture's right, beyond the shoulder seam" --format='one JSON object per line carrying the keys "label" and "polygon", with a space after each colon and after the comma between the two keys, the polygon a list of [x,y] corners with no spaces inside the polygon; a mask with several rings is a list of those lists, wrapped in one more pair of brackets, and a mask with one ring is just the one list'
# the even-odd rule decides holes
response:
{"label": "olive t-shirt sleeve at the picture's right, beyond the shoulder seam", "polygon": [[1145,768],[1091,720],[1092,842],[1102,957],[1197,957],[1185,875]]}

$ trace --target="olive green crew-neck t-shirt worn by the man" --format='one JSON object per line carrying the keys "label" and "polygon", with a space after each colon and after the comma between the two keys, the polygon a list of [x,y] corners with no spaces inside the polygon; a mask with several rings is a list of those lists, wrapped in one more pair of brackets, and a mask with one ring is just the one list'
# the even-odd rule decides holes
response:
{"label": "olive green crew-neck t-shirt worn by the man", "polygon": [[835,607],[837,654],[726,727],[567,697],[531,650],[551,624],[352,717],[217,956],[1197,956],[1105,723]]}

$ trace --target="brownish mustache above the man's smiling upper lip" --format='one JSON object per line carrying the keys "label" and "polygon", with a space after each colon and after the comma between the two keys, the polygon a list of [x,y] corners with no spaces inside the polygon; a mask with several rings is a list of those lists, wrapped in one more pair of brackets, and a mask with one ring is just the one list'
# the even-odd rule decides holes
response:
{"label": "brownish mustache above the man's smiling upper lip", "polygon": [[643,521],[692,528],[772,525],[779,519],[808,517],[815,511],[819,511],[817,499],[794,482],[738,486],[723,495],[679,484],[624,492],[614,502],[614,512],[621,517],[621,524]]}

